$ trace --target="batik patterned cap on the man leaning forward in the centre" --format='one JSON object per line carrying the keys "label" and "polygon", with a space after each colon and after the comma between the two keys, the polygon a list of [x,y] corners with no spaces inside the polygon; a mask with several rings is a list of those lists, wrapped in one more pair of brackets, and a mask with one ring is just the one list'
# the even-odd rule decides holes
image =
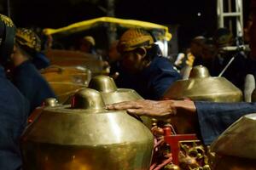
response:
{"label": "batik patterned cap on the man leaning forward in the centre", "polygon": [[154,43],[153,37],[143,29],[133,28],[120,37],[117,46],[119,53],[132,51],[139,47],[150,48]]}

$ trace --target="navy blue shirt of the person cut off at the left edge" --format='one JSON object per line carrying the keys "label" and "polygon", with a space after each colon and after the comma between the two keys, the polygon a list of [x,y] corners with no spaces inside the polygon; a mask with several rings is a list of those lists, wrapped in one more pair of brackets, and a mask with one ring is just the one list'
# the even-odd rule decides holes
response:
{"label": "navy blue shirt of the person cut off at the left edge", "polygon": [[29,102],[5,77],[0,66],[0,169],[20,169],[19,139],[26,127]]}

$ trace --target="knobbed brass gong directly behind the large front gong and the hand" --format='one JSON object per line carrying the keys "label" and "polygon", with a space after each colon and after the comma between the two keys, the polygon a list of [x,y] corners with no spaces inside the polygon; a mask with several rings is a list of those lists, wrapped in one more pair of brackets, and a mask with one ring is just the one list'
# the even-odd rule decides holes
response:
{"label": "knobbed brass gong directly behind the large front gong and the hand", "polygon": [[[93,88],[101,92],[105,105],[143,99],[143,97],[137,94],[133,89],[117,88],[113,78],[107,76],[93,77],[89,83],[89,88]],[[141,118],[147,127],[152,127],[152,121],[150,118],[147,116],[141,116]]]}

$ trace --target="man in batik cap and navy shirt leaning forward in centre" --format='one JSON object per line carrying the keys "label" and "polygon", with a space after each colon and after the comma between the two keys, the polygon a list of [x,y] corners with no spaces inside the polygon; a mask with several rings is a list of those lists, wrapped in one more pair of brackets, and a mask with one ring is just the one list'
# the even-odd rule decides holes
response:
{"label": "man in batik cap and navy shirt leaning forward in centre", "polygon": [[143,29],[130,29],[117,45],[121,61],[119,88],[133,88],[144,99],[160,99],[172,82],[180,79],[169,59],[160,55],[154,38]]}

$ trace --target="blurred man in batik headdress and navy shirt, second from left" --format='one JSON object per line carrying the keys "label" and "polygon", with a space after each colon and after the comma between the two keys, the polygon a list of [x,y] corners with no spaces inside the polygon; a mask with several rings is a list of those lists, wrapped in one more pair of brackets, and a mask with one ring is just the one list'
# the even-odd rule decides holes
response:
{"label": "blurred man in batik headdress and navy shirt, second from left", "polygon": [[11,56],[15,66],[13,81],[20,92],[30,101],[31,111],[43,104],[47,98],[55,98],[48,82],[32,64],[33,56],[41,49],[39,37],[26,28],[16,31],[14,54]]}

